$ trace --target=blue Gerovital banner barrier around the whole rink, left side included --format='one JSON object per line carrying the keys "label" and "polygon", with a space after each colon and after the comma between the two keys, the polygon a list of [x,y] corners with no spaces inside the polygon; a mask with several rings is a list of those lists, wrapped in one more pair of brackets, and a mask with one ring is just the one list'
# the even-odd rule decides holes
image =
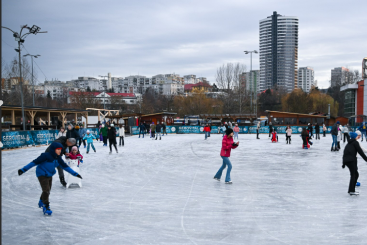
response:
{"label": "blue Gerovital banner barrier around the whole rink, left side included", "polygon": [[[300,134],[305,126],[291,126],[293,134]],[[256,126],[239,126],[240,134],[256,134]],[[273,126],[278,134],[285,134],[286,126]],[[330,133],[331,126],[327,126],[326,133]],[[351,127],[353,131],[357,127]],[[91,133],[99,138],[98,128],[88,128]],[[118,131],[118,127],[116,130]],[[131,127],[132,135],[138,135],[138,127]],[[167,134],[204,134],[204,126],[167,126]],[[31,131],[4,131],[1,132],[2,148],[26,147],[26,146],[41,146],[51,144],[57,137],[59,130],[31,130]],[[222,133],[219,126],[212,126],[211,133]],[[269,134],[269,126],[260,127],[260,134]],[[322,126],[320,134],[322,134]],[[315,129],[314,129],[315,134]],[[119,137],[117,133],[117,137]]]}

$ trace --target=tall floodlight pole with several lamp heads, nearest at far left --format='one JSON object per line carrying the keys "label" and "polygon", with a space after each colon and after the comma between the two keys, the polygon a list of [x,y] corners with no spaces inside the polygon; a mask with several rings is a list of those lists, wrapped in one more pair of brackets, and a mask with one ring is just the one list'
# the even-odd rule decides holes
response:
{"label": "tall floodlight pole with several lamp heads, nearest at far left", "polygon": [[[18,49],[15,49],[19,53],[19,84],[21,86],[21,104],[22,104],[22,119],[23,119],[23,131],[25,131],[25,116],[24,116],[24,98],[23,98],[23,78],[22,78],[22,55],[21,55],[21,44],[24,43],[24,39],[29,34],[37,35],[37,33],[47,33],[47,31],[40,31],[41,27],[38,27],[37,25],[33,25],[32,27],[28,27],[27,25],[21,26],[20,33],[13,31],[12,29],[9,29],[8,27],[1,26],[1,28],[10,30],[13,32],[13,37],[15,38],[15,41],[18,42]],[[23,29],[27,29],[28,32],[25,33],[22,36]]]}

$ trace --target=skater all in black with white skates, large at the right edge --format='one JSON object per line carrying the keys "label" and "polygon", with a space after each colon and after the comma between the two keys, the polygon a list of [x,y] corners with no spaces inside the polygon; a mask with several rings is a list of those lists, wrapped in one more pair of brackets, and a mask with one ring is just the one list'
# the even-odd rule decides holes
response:
{"label": "skater all in black with white skates, large at the right edge", "polygon": [[350,140],[348,140],[348,144],[344,148],[343,155],[343,169],[348,167],[350,172],[350,181],[349,181],[349,189],[348,193],[350,196],[359,196],[359,193],[356,192],[356,184],[359,177],[358,166],[357,166],[357,152],[362,156],[362,158],[367,162],[367,156],[363,152],[361,146],[357,139],[361,136],[358,136],[357,133],[350,133]]}

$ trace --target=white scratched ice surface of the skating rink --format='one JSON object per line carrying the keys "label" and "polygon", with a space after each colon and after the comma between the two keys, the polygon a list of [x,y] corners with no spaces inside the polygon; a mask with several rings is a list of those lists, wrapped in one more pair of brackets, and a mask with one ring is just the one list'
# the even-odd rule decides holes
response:
{"label": "white scratched ice surface of the skating rink", "polygon": [[[11,245],[366,245],[367,165],[361,196],[349,196],[343,151],[331,137],[309,150],[267,135],[240,135],[232,150],[233,185],[213,179],[222,137],[168,135],[125,139],[109,155],[85,154],[83,188],[53,179],[52,216],[38,208],[36,168],[18,176],[46,147],[1,153],[1,244]],[[367,147],[366,142],[362,142]],[[342,143],[342,150],[344,144]]]}

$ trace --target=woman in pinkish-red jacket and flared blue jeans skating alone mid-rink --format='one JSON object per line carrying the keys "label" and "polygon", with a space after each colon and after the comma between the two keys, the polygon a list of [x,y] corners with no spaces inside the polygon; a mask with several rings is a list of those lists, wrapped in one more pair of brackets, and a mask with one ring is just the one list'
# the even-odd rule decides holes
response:
{"label": "woman in pinkish-red jacket and flared blue jeans skating alone mid-rink", "polygon": [[214,179],[220,181],[222,177],[223,170],[228,165],[227,169],[227,175],[226,175],[226,184],[232,184],[232,181],[230,181],[230,171],[232,170],[232,164],[229,161],[230,157],[230,150],[235,149],[238,147],[240,142],[234,143],[233,142],[233,130],[228,128],[226,130],[226,135],[223,137],[222,141],[222,150],[221,150],[221,157],[223,159],[223,165],[215,174]]}

